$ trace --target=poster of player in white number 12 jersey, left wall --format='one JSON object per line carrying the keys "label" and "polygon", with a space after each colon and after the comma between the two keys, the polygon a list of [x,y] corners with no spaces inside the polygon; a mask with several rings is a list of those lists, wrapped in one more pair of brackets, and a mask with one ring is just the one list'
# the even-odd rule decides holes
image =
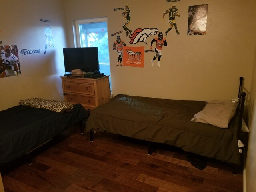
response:
{"label": "poster of player in white number 12 jersey, left wall", "polygon": [[0,47],[0,78],[20,75],[21,70],[17,46],[1,45]]}

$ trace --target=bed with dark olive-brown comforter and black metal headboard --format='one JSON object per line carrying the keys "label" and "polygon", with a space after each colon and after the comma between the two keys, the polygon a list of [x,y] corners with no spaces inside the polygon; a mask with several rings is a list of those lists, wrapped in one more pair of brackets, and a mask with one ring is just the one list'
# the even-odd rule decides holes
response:
{"label": "bed with dark olive-brown comforter and black metal headboard", "polygon": [[156,142],[240,165],[238,140],[246,97],[246,93],[242,92],[242,82],[243,78],[240,77],[238,99],[228,101],[228,104],[237,104],[232,108],[233,116],[225,120],[226,127],[195,120],[196,115],[206,110],[212,102],[118,94],[110,102],[90,112],[86,132],[90,132],[91,142],[93,132],[102,131],[146,140],[149,142],[148,154],[152,153],[152,143]]}

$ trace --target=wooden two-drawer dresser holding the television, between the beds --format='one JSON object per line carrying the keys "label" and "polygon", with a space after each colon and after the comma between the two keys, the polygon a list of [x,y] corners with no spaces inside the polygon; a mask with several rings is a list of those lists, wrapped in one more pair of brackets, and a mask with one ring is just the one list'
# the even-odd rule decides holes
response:
{"label": "wooden two-drawer dresser holding the television, between the beds", "polygon": [[109,76],[98,79],[61,76],[64,100],[94,109],[110,101]]}

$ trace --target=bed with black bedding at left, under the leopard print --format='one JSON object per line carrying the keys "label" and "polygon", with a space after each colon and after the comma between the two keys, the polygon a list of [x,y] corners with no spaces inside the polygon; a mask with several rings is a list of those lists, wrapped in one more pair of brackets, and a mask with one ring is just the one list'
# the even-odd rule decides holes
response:
{"label": "bed with black bedding at left, under the leopard print", "polygon": [[[23,100],[18,106],[0,111],[0,167],[31,152],[74,124],[80,123],[80,132],[83,133],[88,113],[81,104],[58,112],[46,109],[45,101],[42,106],[33,106],[24,104]],[[56,104],[51,108],[56,109]]]}

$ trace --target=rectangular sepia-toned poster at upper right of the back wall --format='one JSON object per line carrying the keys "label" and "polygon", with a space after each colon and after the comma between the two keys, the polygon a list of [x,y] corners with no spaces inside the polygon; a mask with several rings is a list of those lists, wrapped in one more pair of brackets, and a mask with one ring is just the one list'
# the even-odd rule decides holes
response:
{"label": "rectangular sepia-toned poster at upper right of the back wall", "polygon": [[208,4],[188,7],[188,35],[205,35]]}

